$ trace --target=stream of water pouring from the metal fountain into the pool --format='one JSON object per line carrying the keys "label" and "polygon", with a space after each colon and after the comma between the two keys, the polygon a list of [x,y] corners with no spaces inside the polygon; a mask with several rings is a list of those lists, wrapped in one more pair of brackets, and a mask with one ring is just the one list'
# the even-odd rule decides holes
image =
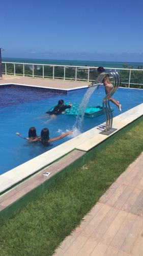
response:
{"label": "stream of water pouring from the metal fountain into the pool", "polygon": [[79,110],[78,110],[78,114],[76,117],[76,121],[73,125],[73,131],[75,131],[75,133],[77,135],[81,133],[84,112],[87,109],[90,97],[92,96],[92,94],[94,93],[94,91],[96,90],[97,87],[98,87],[98,85],[94,86],[94,87],[90,87],[87,90],[87,92],[84,94],[84,97],[79,105]]}

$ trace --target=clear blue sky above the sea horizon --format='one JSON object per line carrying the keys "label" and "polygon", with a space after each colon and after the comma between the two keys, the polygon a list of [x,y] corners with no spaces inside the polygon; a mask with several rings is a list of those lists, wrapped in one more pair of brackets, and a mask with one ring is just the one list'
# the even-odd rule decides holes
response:
{"label": "clear blue sky above the sea horizon", "polygon": [[143,1],[1,2],[3,57],[143,62]]}

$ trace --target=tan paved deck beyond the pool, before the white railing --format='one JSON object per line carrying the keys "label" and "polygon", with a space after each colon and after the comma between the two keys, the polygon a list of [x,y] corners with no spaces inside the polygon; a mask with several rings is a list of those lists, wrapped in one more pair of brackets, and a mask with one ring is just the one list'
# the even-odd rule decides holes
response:
{"label": "tan paved deck beyond the pool, before the white railing", "polygon": [[60,89],[60,90],[74,90],[87,88],[90,82],[81,82],[81,81],[69,81],[69,80],[58,80],[58,79],[47,79],[47,78],[33,78],[33,77],[23,77],[23,76],[11,76],[4,75],[0,79],[1,84],[21,84],[26,86],[38,86],[46,87],[51,89]]}

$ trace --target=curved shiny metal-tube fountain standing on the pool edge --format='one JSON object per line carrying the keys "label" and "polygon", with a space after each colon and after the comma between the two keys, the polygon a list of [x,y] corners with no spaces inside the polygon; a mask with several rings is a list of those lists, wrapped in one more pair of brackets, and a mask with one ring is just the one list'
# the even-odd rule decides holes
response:
{"label": "curved shiny metal-tube fountain standing on the pool edge", "polygon": [[92,82],[91,86],[100,86],[101,84],[103,84],[103,79],[105,78],[106,75],[109,75],[110,77],[112,77],[114,79],[113,81],[113,88],[110,91],[109,94],[107,94],[103,101],[102,101],[102,106],[103,106],[103,111],[104,114],[106,116],[106,127],[105,130],[102,131],[100,134],[104,134],[104,135],[109,135],[113,132],[115,132],[117,129],[112,128],[112,111],[111,111],[111,107],[110,107],[110,103],[109,103],[109,99],[112,97],[112,95],[117,91],[117,89],[120,86],[121,80],[120,80],[120,76],[118,74],[118,72],[116,71],[106,71],[106,72],[102,72],[101,74],[98,75],[98,77],[96,78],[96,80],[94,82]]}

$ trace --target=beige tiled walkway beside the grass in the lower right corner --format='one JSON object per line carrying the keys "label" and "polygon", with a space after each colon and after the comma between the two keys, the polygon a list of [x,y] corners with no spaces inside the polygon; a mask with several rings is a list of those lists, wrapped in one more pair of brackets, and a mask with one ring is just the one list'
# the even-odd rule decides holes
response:
{"label": "beige tiled walkway beside the grass in the lower right corner", "polygon": [[143,255],[143,153],[110,186],[54,255]]}

